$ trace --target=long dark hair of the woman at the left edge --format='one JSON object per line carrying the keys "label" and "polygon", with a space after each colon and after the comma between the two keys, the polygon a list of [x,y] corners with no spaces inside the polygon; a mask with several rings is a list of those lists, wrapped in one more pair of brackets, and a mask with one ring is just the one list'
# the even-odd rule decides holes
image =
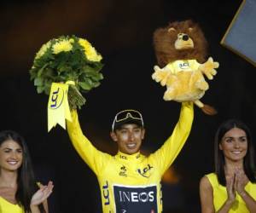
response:
{"label": "long dark hair of the woman at the left edge", "polygon": [[[32,170],[32,161],[26,142],[21,135],[13,130],[3,130],[0,132],[0,146],[4,141],[13,140],[20,145],[22,148],[22,164],[18,170],[18,180],[17,180],[17,192],[15,194],[15,199],[17,203],[22,206],[26,213],[30,213],[30,203],[32,195],[38,190],[37,182],[35,181],[35,176]],[[44,213],[43,204],[39,205],[40,212]]]}

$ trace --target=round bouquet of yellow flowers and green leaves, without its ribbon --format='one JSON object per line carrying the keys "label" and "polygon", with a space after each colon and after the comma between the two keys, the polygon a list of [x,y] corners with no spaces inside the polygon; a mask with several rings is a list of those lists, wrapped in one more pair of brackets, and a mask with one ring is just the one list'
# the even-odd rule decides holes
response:
{"label": "round bouquet of yellow flowers and green leaves, without its ribbon", "polygon": [[81,108],[85,99],[81,93],[100,85],[103,76],[102,55],[84,38],[61,36],[44,43],[36,54],[31,80],[38,93],[49,95],[52,83],[73,82],[67,99],[71,109]]}

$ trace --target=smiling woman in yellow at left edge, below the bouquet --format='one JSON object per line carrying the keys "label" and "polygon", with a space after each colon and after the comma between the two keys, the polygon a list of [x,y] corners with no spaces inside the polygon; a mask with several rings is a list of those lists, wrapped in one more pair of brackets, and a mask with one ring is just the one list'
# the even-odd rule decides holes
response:
{"label": "smiling woman in yellow at left edge, below the bouquet", "polygon": [[35,181],[24,139],[15,131],[0,132],[0,212],[47,213],[53,184]]}

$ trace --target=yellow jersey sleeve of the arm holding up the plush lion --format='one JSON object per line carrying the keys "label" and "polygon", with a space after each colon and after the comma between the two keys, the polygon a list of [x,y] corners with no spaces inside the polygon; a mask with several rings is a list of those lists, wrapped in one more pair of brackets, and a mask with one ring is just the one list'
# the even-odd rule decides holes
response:
{"label": "yellow jersey sleeve of the arm holding up the plush lion", "polygon": [[149,156],[149,159],[158,165],[160,174],[163,175],[177,158],[177,154],[183,148],[185,141],[189,136],[194,118],[194,106],[192,102],[183,102],[179,120],[172,132],[172,135],[165,141],[155,153]]}

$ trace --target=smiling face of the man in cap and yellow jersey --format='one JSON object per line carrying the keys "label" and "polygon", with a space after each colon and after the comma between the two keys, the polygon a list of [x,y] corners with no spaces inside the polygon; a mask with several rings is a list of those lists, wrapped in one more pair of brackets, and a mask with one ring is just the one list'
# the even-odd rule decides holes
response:
{"label": "smiling face of the man in cap and yellow jersey", "polygon": [[145,130],[137,124],[124,124],[119,130],[111,132],[113,141],[116,141],[119,151],[126,154],[137,153],[142,145]]}

